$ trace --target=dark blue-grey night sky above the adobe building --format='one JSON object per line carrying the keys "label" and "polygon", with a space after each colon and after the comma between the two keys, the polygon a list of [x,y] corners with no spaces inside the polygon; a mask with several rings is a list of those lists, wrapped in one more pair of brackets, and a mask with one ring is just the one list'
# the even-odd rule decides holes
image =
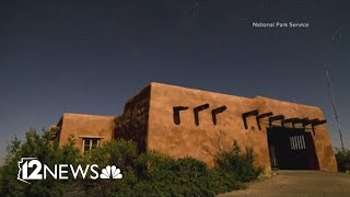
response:
{"label": "dark blue-grey night sky above the adobe building", "polygon": [[[0,161],[65,112],[120,115],[151,81],[324,109],[350,146],[350,1],[0,2]],[[259,28],[253,22],[304,22]]]}

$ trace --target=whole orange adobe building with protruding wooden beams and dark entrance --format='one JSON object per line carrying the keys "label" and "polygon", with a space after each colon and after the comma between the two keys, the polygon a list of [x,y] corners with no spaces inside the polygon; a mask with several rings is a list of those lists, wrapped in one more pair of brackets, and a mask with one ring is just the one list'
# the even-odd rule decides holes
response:
{"label": "whole orange adobe building with protruding wooden beams and dark entrance", "polygon": [[151,83],[127,101],[120,116],[63,114],[59,144],[74,136],[83,151],[115,139],[133,140],[140,151],[191,157],[213,165],[213,154],[237,141],[253,148],[256,165],[337,171],[319,107],[261,96],[240,97]]}

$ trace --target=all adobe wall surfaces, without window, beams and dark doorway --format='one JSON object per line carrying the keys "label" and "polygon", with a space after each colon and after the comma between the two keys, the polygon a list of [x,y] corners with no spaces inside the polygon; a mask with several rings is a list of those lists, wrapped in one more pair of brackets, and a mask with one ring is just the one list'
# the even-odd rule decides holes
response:
{"label": "all adobe wall surfaces, without window, beams and dark doorway", "polygon": [[[195,124],[194,108],[209,104],[199,112],[199,125]],[[225,105],[226,109],[212,121],[211,111]],[[182,111],[180,124],[173,118],[174,106],[188,106]],[[82,148],[81,136],[100,136],[102,142],[113,139],[131,139],[140,151],[156,150],[174,158],[192,157],[213,165],[213,154],[218,148],[228,148],[236,140],[243,148],[252,147],[256,154],[256,165],[270,172],[267,129],[261,123],[258,129],[255,117],[247,118],[244,128],[242,114],[258,109],[260,114],[272,112],[285,118],[324,119],[320,108],[281,102],[267,97],[253,99],[226,95],[162,83],[151,83],[128,100],[121,116],[95,116],[63,114],[61,118],[60,146],[70,135],[75,138],[77,148]],[[337,164],[326,125],[315,127],[312,135],[315,143],[319,170],[336,171]],[[219,142],[218,142],[219,141]],[[224,146],[224,147],[222,147]]]}

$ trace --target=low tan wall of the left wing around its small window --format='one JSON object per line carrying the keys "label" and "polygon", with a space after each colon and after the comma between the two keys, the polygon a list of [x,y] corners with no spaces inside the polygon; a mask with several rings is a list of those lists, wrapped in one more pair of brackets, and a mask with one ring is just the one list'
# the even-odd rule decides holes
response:
{"label": "low tan wall of the left wing around its small window", "polygon": [[85,114],[65,113],[61,119],[59,146],[67,143],[69,136],[73,135],[75,147],[82,149],[82,136],[102,137],[101,143],[110,141],[115,130],[115,116],[96,116]]}

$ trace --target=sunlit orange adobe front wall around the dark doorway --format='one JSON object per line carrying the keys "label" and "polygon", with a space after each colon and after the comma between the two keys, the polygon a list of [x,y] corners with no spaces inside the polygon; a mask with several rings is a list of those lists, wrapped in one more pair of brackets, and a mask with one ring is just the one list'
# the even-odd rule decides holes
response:
{"label": "sunlit orange adobe front wall around the dark doorway", "polygon": [[[195,124],[194,108],[209,104],[209,108],[198,113],[199,125]],[[187,106],[179,112],[180,123],[174,121],[175,106]],[[212,120],[212,109],[225,106],[217,114],[217,125]],[[270,172],[267,130],[259,130],[255,118],[247,118],[244,128],[242,114],[258,109],[273,112],[285,118],[310,117],[323,119],[317,107],[279,102],[265,97],[246,99],[212,93],[175,85],[151,83],[149,112],[148,149],[158,150],[174,158],[192,157],[213,165],[213,154],[220,144],[231,146],[236,140],[243,147],[252,147],[256,153],[256,165]],[[317,126],[315,147],[320,170],[336,171],[330,139],[326,126]],[[220,141],[220,142],[218,142]]]}

